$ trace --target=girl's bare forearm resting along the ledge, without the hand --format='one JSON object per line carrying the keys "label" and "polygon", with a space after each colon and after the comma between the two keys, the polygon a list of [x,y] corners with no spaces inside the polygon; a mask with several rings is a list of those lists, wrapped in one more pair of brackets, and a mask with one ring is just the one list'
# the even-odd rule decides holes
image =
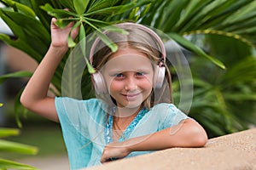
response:
{"label": "girl's bare forearm resting along the ledge, without the hand", "polygon": [[124,142],[130,151],[164,150],[172,147],[201,147],[207,142],[207,133],[193,120],[156,133],[129,139]]}

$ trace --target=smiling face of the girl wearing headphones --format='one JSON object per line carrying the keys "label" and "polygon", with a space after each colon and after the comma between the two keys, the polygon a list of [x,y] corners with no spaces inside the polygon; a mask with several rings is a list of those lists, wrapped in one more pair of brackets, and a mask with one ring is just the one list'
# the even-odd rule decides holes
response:
{"label": "smiling face of the girl wearing headphones", "polygon": [[119,49],[110,56],[102,71],[108,92],[118,107],[139,107],[151,94],[154,77],[152,62],[136,49]]}

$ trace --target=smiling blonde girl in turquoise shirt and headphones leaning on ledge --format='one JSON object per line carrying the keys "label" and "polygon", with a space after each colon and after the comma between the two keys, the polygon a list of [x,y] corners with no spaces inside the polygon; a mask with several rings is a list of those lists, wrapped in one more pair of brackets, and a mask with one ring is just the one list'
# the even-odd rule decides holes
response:
{"label": "smiling blonde girl in turquoise shirt and headphones leaning on ledge", "polygon": [[[118,45],[115,53],[99,39],[92,45],[97,99],[48,97],[50,80],[67,52],[72,26],[61,29],[52,20],[49,51],[20,98],[27,109],[61,123],[71,169],[207,143],[201,125],[172,105],[163,42],[145,26],[123,23],[116,26],[128,34],[106,32]],[[73,39],[78,32],[72,31]]]}

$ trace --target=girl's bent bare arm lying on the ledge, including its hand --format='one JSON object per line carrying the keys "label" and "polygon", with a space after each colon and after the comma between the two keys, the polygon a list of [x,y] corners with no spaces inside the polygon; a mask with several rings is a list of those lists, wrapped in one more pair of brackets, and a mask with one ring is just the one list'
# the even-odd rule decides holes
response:
{"label": "girl's bent bare arm lying on the ledge, including its hand", "polygon": [[173,147],[202,147],[207,143],[207,133],[192,119],[156,133],[108,144],[103,150],[101,161],[123,158],[132,151],[165,150]]}

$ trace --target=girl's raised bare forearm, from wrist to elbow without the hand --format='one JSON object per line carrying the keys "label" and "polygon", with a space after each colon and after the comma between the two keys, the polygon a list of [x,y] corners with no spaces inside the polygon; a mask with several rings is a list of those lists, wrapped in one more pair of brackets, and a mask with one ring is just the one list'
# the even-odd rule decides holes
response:
{"label": "girl's raised bare forearm, from wrist to elbow without the hand", "polygon": [[[44,59],[38,65],[37,70],[33,73],[20,97],[20,102],[27,109],[37,112],[38,114],[42,111],[47,111],[47,108],[42,110],[40,108],[41,105],[39,104],[40,101],[45,99],[47,100],[49,83],[51,82],[55,70],[66,52],[66,48],[55,48],[50,46],[47,54],[45,54]],[[49,103],[51,103],[50,108],[53,108],[53,102]]]}

